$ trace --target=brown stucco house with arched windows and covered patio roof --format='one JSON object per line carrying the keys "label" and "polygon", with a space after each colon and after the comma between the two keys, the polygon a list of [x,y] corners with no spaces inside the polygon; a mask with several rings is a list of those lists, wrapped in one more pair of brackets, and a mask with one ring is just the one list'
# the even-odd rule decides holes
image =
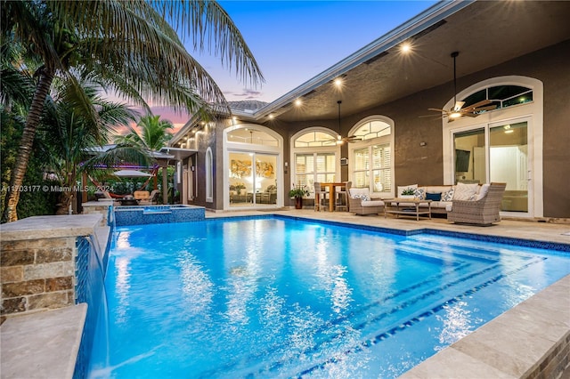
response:
{"label": "brown stucco house with arched windows and covered patio roof", "polygon": [[[505,181],[502,215],[569,219],[568,20],[570,2],[435,4],[276,101],[191,119],[166,148],[181,201],[278,208],[314,181],[382,198],[407,184]],[[496,108],[428,110],[456,100]]]}

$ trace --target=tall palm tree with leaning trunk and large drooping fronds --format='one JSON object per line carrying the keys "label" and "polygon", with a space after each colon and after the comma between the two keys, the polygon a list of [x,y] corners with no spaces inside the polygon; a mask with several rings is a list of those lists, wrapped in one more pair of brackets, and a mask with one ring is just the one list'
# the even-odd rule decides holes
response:
{"label": "tall palm tree with leaning trunk and large drooping fronds", "polygon": [[[20,141],[12,186],[20,186],[28,166],[34,136],[53,77],[67,77],[74,69],[94,71],[113,82],[116,89],[134,98],[174,107],[189,113],[207,113],[210,104],[227,109],[224,95],[208,72],[186,52],[173,20],[183,36],[192,36],[194,47],[205,44],[230,69],[253,84],[263,80],[253,54],[228,14],[214,1],[1,0],[3,44],[7,36],[26,44],[27,52],[42,61],[37,85]],[[77,106],[96,122],[96,112],[76,82]],[[217,109],[219,110],[219,109]],[[7,201],[8,221],[18,219],[20,193]]]}

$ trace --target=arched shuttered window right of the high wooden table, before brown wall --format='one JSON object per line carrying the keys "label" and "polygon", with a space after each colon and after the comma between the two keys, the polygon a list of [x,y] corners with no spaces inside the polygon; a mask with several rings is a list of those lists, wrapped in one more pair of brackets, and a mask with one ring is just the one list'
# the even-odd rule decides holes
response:
{"label": "arched shuttered window right of the high wooden table, before brown wall", "polygon": [[349,146],[353,187],[368,188],[380,196],[392,194],[394,162],[392,150],[394,122],[387,117],[371,116],[361,120],[348,135],[360,137]]}

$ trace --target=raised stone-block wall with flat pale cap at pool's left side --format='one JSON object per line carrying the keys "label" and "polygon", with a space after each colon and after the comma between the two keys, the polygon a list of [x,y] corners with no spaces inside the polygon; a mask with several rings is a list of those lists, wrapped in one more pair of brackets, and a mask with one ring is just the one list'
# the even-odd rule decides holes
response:
{"label": "raised stone-block wall with flat pale cap at pool's left side", "polygon": [[101,215],[38,216],[2,225],[1,322],[75,304],[78,250],[89,246],[83,239],[93,235],[101,219]]}

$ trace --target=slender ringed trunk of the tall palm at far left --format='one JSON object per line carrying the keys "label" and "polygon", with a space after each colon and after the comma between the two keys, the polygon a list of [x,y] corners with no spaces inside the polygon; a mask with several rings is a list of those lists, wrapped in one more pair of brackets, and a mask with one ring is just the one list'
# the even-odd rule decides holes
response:
{"label": "slender ringed trunk of the tall palm at far left", "polygon": [[[36,136],[37,125],[39,125],[40,116],[44,109],[44,102],[47,93],[49,93],[53,82],[53,70],[46,68],[41,70],[39,81],[37,83],[36,92],[29,108],[28,117],[26,117],[26,125],[21,135],[20,148],[16,156],[16,164],[12,170],[12,178],[10,180],[10,195],[6,200],[6,220],[14,222],[18,220],[16,206],[20,200],[20,190],[24,181],[24,175],[28,169],[29,154],[34,145],[34,137]],[[32,183],[33,184],[33,183]]]}

